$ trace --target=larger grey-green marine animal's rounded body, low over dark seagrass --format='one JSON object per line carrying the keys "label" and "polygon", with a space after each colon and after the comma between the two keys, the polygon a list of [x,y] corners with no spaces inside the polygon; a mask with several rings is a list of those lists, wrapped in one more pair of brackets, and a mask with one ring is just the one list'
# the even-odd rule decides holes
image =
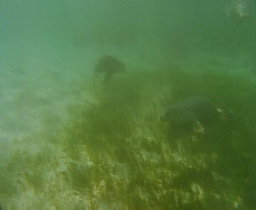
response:
{"label": "larger grey-green marine animal's rounded body, low over dark seagrass", "polygon": [[161,116],[172,127],[193,129],[197,123],[208,126],[218,121],[219,115],[216,106],[204,96],[189,97],[177,102],[165,110]]}

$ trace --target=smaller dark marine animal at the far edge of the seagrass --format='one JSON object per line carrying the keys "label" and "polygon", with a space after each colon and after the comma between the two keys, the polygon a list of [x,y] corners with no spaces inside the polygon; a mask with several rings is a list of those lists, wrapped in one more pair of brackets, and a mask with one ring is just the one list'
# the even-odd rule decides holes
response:
{"label": "smaller dark marine animal at the far edge of the seagrass", "polygon": [[105,74],[103,82],[106,84],[113,78],[114,74],[122,72],[126,72],[126,65],[111,55],[105,55],[94,67],[94,85],[99,74]]}

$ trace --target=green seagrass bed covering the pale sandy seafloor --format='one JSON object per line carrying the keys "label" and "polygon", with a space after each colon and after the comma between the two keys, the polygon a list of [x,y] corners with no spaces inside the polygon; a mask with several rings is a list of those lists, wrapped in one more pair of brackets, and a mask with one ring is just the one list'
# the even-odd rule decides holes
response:
{"label": "green seagrass bed covering the pale sandy seafloor", "polygon": [[[255,84],[245,81],[221,72],[142,72],[113,81],[43,151],[13,155],[9,195],[20,203],[37,198],[27,207],[48,200],[48,208],[247,209],[255,199],[255,108],[241,100],[255,103]],[[174,136],[159,117],[179,93],[210,95],[230,114],[202,136]]]}

